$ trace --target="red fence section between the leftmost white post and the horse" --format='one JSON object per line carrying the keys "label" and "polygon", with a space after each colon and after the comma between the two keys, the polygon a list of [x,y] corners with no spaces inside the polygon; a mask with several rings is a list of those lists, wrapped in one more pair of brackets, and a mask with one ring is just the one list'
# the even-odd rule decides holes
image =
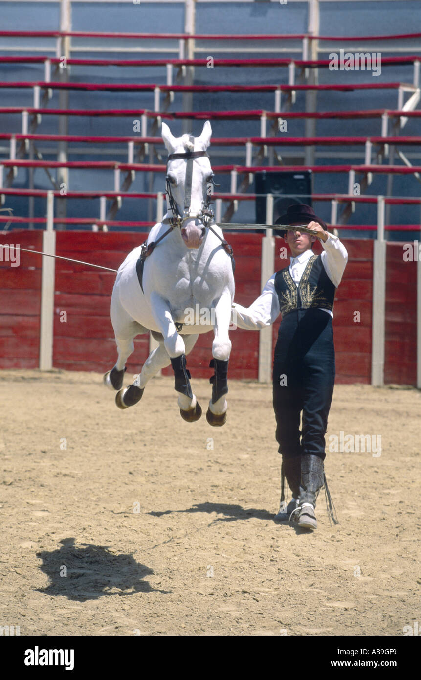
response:
{"label": "red fence section between the leftmost white post and the horse", "polygon": [[[146,233],[58,231],[56,254],[118,269]],[[75,262],[56,260],[53,365],[67,371],[112,369],[117,359],[110,321],[116,275]],[[66,314],[64,315],[63,312]],[[128,374],[139,373],[149,354],[148,335],[135,339]]]}

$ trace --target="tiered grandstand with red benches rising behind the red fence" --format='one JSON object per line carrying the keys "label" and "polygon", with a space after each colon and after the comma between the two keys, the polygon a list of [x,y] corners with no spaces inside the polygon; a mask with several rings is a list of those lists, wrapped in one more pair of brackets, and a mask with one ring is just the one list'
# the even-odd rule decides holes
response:
{"label": "tiered grandstand with red benches rising behind the red fence", "polygon": [[[88,9],[78,6],[78,12]],[[0,31],[0,205],[12,211],[0,213],[6,235],[14,226],[77,227],[88,243],[98,229],[144,232],[165,212],[161,120],[173,121],[180,132],[211,120],[212,167],[221,184],[214,193],[218,221],[255,221],[256,172],[310,170],[311,199],[329,214],[330,228],[345,239],[375,237],[371,254],[365,251],[367,261],[375,260],[369,275],[386,262],[386,251],[393,251],[398,267],[396,248],[382,245],[384,233],[390,241],[405,234],[413,239],[421,221],[421,33],[207,35],[194,27],[122,33],[73,31],[65,23],[61,30]],[[392,78],[331,69],[324,54],[339,48],[381,52]],[[270,224],[270,200],[267,214]],[[260,248],[260,236],[248,237]],[[271,238],[269,231],[264,238]],[[381,277],[382,291],[386,269]],[[362,294],[367,302],[366,288]],[[384,380],[384,347],[380,360],[374,357],[387,326],[382,304],[382,298],[373,304],[364,360],[354,358],[359,373],[347,363],[344,381],[352,375],[373,384]],[[414,324],[411,333],[418,328],[421,337],[419,318]],[[417,342],[418,362],[408,362],[405,379],[410,375],[421,386]],[[390,376],[401,381],[397,371]]]}

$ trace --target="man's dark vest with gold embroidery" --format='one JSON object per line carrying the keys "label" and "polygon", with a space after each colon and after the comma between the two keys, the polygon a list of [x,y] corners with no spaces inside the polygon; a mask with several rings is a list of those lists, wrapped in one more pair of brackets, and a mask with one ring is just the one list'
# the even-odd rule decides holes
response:
{"label": "man's dark vest with gold embroidery", "polygon": [[298,287],[292,280],[289,267],[278,271],[275,275],[275,290],[283,317],[296,309],[333,309],[336,288],[326,274],[320,255],[313,255],[309,259]]}

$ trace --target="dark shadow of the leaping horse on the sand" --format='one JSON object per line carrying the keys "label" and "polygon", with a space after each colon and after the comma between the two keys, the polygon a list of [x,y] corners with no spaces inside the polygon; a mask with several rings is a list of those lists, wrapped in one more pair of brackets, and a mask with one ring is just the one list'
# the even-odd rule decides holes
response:
{"label": "dark shadow of the leaping horse on the sand", "polygon": [[38,592],[62,595],[69,600],[97,600],[102,596],[129,596],[155,590],[144,579],[154,574],[145,564],[136,562],[131,554],[114,555],[107,547],[63,539],[56,550],[37,552],[39,565],[50,583]]}

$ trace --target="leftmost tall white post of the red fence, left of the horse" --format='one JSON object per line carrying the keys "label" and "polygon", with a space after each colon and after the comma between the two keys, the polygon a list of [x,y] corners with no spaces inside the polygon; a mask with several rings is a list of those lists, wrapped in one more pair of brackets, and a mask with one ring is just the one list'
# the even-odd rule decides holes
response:
{"label": "leftmost tall white post of the red fence, left of the horse", "polygon": [[[47,194],[47,229],[42,234],[42,252],[56,254],[54,231],[54,193]],[[42,258],[41,269],[41,316],[39,321],[39,370],[52,369],[54,327],[54,257]]]}

